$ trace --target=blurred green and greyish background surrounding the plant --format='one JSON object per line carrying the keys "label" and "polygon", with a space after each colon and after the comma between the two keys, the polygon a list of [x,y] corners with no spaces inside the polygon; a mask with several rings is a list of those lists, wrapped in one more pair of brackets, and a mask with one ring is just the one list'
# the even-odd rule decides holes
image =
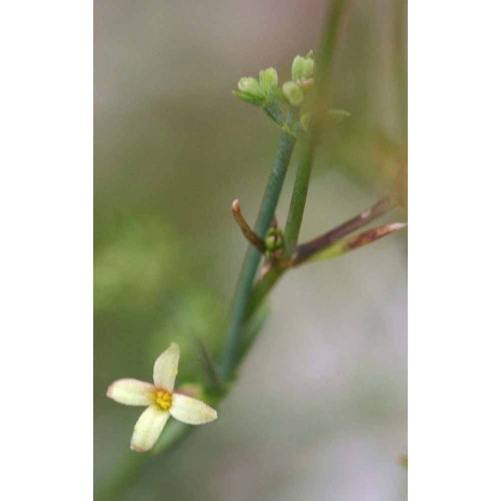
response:
{"label": "blurred green and greyish background surrounding the plant", "polygon": [[[94,6],[96,499],[405,499],[405,232],[286,274],[218,419],[158,457],[129,449],[141,409],[107,386],[151,381],[171,341],[178,382],[197,380],[194,337],[223,342],[246,248],[230,205],[254,221],[279,137],[231,91],[268,66],[288,80],[328,2]],[[406,162],[406,20],[405,2],[348,2],[331,103],[351,117],[323,136],[301,241],[386,195]]]}

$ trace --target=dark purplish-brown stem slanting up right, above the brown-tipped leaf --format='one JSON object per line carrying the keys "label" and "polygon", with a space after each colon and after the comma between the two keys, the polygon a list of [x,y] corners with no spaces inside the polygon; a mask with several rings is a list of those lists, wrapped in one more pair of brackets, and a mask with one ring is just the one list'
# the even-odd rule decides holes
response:
{"label": "dark purplish-brown stem slanting up right, above the brown-tipped leaf", "polygon": [[358,216],[346,221],[340,226],[334,228],[323,235],[310,240],[309,242],[298,245],[296,252],[294,253],[294,264],[299,265],[303,261],[306,261],[312,254],[319,252],[319,250],[331,245],[336,240],[339,240],[343,236],[349,235],[358,228],[361,228],[368,222],[376,219],[380,215],[384,214],[388,210],[395,207],[397,204],[397,196],[392,193],[386,196],[382,200],[379,200],[370,209],[362,212]]}

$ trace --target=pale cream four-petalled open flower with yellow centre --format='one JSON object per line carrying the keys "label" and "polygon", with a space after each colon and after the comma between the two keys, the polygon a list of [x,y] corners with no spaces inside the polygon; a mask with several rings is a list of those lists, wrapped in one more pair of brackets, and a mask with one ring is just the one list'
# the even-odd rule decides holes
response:
{"label": "pale cream four-petalled open flower with yellow centre", "polygon": [[179,355],[179,346],[171,343],[156,359],[153,367],[154,384],[137,379],[119,379],[108,388],[107,396],[116,402],[148,406],[134,426],[130,441],[133,450],[150,450],[170,416],[187,424],[210,423],[217,417],[217,412],[207,404],[175,392]]}

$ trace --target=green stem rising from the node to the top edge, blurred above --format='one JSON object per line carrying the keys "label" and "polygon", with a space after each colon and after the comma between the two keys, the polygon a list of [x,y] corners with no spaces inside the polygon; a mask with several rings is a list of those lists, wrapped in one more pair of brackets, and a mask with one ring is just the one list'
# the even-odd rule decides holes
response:
{"label": "green stem rising from the node to the top edge, blurred above", "polygon": [[303,157],[298,165],[296,182],[289,207],[289,215],[284,232],[284,246],[286,257],[290,257],[296,248],[299,238],[299,230],[305,211],[306,196],[310,184],[310,174],[313,164],[315,147],[318,143],[322,122],[326,114],[325,105],[327,101],[327,92],[329,89],[330,69],[333,60],[334,48],[336,45],[336,35],[339,31],[339,25],[342,19],[342,13],[345,6],[345,0],[337,0],[331,3],[331,10],[328,15],[327,25],[325,27],[324,37],[321,46],[320,57],[315,75],[315,96],[314,96],[314,114],[310,123],[306,148]]}

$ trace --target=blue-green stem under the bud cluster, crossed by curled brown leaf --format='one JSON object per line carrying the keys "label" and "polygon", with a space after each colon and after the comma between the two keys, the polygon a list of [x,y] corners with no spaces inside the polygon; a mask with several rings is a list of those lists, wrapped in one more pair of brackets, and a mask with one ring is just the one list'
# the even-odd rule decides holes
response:
{"label": "blue-green stem under the bud cluster, crossed by curled brown leaf", "polygon": [[[285,174],[291,161],[292,151],[296,138],[289,132],[282,131],[280,135],[279,150],[273,164],[273,169],[268,180],[261,209],[258,214],[254,232],[263,239],[272,222],[277,207],[277,202],[284,183]],[[221,375],[227,379],[231,374],[238,352],[238,337],[244,321],[247,304],[250,298],[254,278],[258,271],[261,253],[253,245],[249,245],[243,261],[242,269],[233,296],[229,325],[226,331],[226,345],[221,363]]]}

